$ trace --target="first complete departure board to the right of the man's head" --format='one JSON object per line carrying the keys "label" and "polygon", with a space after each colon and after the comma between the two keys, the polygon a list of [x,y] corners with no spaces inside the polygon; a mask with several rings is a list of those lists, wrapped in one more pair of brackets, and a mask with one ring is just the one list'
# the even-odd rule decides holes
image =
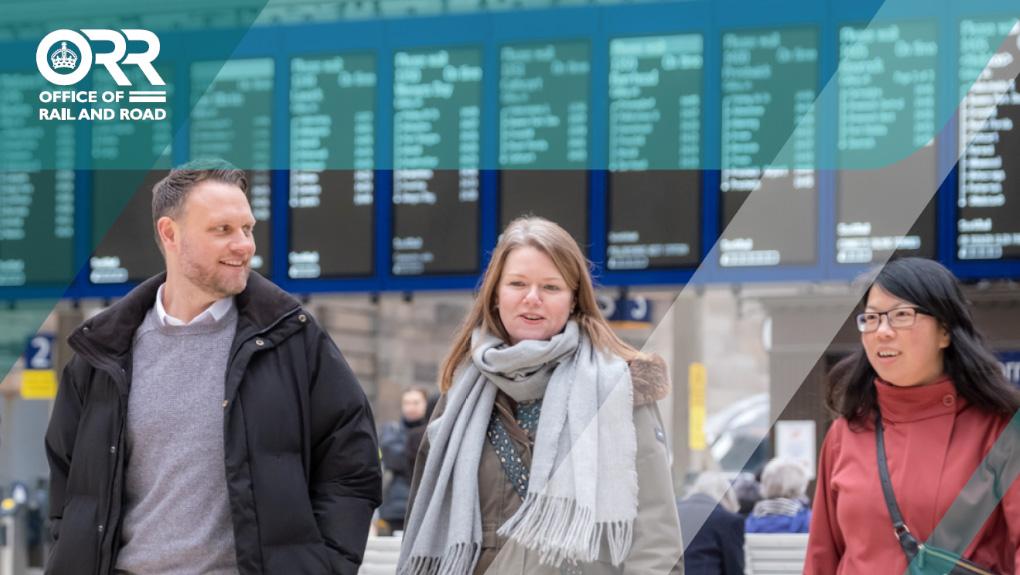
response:
{"label": "first complete departure board to the right of the man's head", "polygon": [[375,57],[291,60],[288,276],[371,275]]}

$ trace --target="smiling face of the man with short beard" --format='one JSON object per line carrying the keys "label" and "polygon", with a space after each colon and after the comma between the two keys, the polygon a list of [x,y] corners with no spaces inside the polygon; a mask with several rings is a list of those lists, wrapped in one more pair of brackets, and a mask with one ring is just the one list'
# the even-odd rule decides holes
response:
{"label": "smiling face of the man with short beard", "polygon": [[244,291],[255,254],[255,217],[241,188],[221,181],[198,184],[174,223],[176,261],[167,259],[168,271],[175,266],[180,277],[212,299]]}

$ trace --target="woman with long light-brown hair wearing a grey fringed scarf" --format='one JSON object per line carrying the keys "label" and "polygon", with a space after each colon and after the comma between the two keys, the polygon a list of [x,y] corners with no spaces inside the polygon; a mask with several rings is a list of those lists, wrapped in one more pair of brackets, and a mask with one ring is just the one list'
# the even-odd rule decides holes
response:
{"label": "woman with long light-brown hair wearing a grey fringed scarf", "polygon": [[440,387],[399,574],[681,573],[665,364],[613,333],[562,227],[507,226]]}

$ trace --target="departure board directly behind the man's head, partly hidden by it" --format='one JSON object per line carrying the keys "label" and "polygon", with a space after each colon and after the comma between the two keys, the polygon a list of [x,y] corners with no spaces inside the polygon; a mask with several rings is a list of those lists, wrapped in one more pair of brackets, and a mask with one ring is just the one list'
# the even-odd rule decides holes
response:
{"label": "departure board directly behind the man's head, partly hidden by it", "polygon": [[256,221],[251,266],[268,275],[272,59],[197,62],[191,72],[191,157],[224,159],[248,172],[248,199]]}

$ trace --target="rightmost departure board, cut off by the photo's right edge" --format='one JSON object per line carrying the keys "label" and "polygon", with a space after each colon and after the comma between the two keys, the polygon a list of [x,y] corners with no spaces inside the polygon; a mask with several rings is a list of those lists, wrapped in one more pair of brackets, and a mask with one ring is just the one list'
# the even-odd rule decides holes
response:
{"label": "rightmost departure board, cut off by the photo's right edge", "polygon": [[1020,258],[1020,24],[960,23],[957,257]]}

